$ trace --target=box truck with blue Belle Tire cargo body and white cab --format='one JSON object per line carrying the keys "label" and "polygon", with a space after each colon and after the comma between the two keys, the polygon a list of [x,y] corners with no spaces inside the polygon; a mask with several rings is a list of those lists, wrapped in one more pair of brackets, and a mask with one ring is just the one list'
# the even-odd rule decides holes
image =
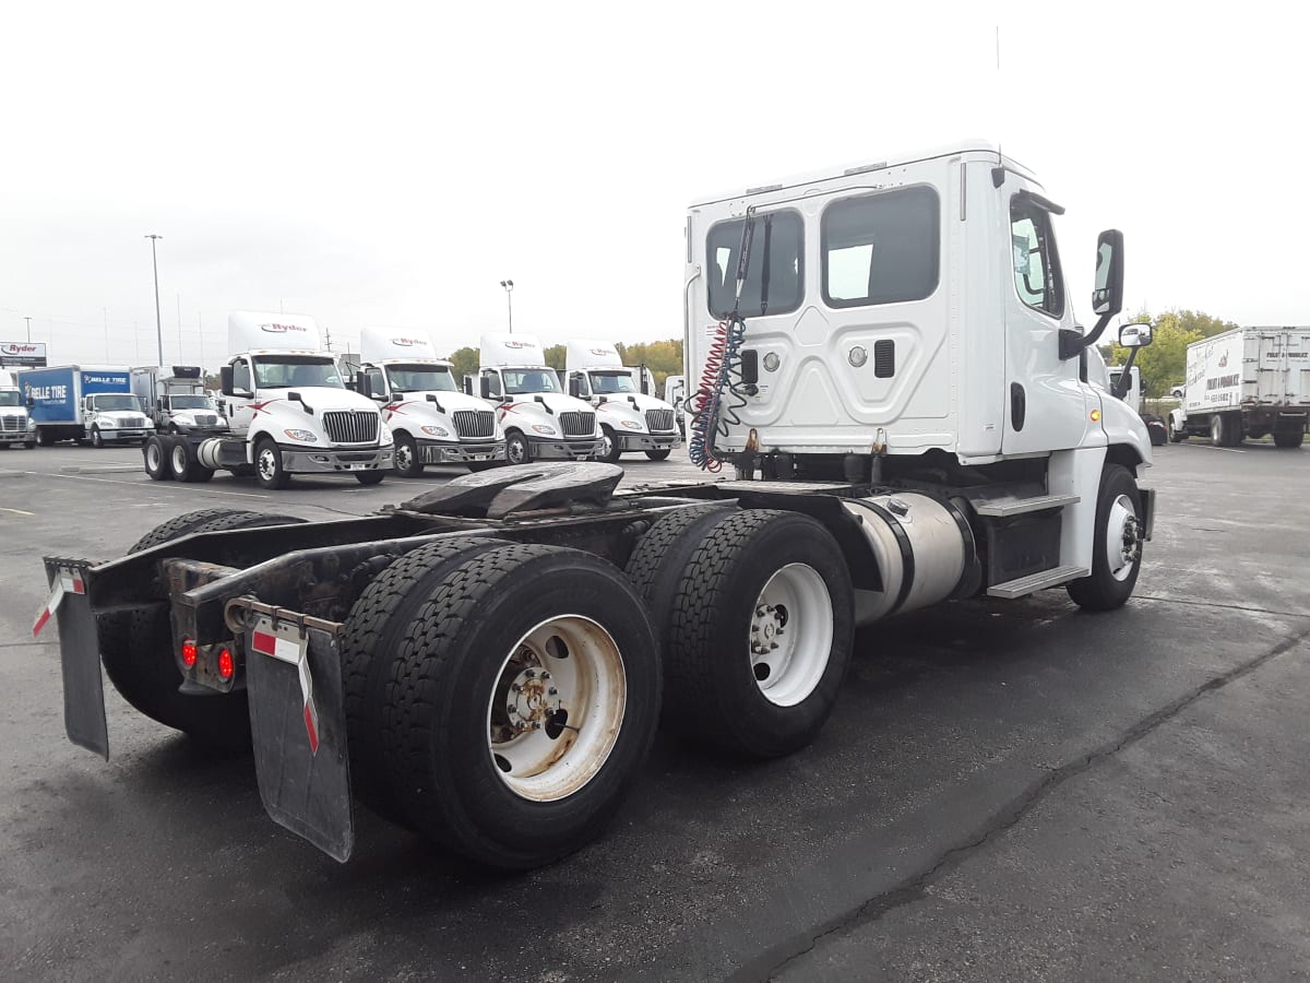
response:
{"label": "box truck with blue Belle Tire cargo body and white cab", "polygon": [[18,372],[37,443],[89,440],[93,447],[145,442],[155,423],[132,395],[127,366],[50,366]]}

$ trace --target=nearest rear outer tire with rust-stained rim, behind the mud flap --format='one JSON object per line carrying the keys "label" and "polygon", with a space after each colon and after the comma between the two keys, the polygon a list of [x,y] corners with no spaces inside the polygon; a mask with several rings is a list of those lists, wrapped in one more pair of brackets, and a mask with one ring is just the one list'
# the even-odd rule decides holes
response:
{"label": "nearest rear outer tire with rust-stained rim, behind the mud flap", "polygon": [[[575,629],[588,641],[558,644]],[[561,705],[579,696],[567,727],[504,743],[514,725],[495,714],[517,699],[506,682],[516,659],[555,671]],[[595,839],[618,809],[650,751],[659,703],[650,620],[612,564],[562,547],[494,549],[438,587],[401,644],[385,731],[401,805],[417,830],[478,864],[553,862]],[[515,742],[521,751],[544,741],[569,743],[540,771],[516,775],[507,758]]]}

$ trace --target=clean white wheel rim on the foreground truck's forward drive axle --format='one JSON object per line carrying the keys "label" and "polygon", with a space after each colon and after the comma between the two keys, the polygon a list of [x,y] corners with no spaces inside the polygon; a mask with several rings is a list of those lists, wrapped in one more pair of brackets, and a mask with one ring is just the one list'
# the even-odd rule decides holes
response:
{"label": "clean white wheel rim on the foreground truck's forward drive axle", "polygon": [[832,595],[812,566],[769,578],[751,613],[751,674],[764,697],[795,706],[819,685],[832,654]]}

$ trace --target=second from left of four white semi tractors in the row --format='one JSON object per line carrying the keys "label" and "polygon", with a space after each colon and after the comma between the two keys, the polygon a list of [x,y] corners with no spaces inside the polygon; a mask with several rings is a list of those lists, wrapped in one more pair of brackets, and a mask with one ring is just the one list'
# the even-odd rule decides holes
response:
{"label": "second from left of four white semi tractors in the row", "polygon": [[504,431],[495,408],[461,392],[449,362],[413,330],[364,328],[356,388],[383,406],[396,440],[396,471],[409,477],[424,464],[504,464]]}

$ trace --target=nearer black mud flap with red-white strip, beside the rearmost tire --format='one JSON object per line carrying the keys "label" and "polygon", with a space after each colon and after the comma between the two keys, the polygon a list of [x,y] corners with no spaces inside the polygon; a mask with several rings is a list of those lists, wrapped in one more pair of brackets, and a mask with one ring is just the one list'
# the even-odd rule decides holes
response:
{"label": "nearer black mud flap with red-white strip, beside the rearmost tire", "polygon": [[[345,864],[355,847],[346,754],[346,699],[335,634],[320,628],[248,615],[246,688],[254,767],[265,811],[279,826]],[[272,636],[280,649],[307,651],[312,706],[293,661],[257,649],[255,636]],[[314,747],[317,742],[317,747]]]}

